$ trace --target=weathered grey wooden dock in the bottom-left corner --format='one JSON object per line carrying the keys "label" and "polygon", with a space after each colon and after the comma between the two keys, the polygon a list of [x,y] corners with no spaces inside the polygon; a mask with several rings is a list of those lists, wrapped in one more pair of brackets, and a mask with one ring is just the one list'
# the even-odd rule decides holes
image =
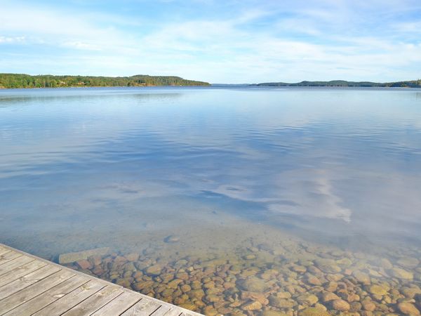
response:
{"label": "weathered grey wooden dock in the bottom-left corner", "polygon": [[0,244],[0,315],[201,314]]}

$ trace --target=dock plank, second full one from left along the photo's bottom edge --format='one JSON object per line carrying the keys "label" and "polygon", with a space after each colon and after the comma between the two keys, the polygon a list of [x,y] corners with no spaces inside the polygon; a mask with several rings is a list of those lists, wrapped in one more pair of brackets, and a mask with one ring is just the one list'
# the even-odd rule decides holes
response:
{"label": "dock plank, second full one from left along the photo's bottom edge", "polygon": [[74,291],[71,291],[69,294],[59,298],[57,301],[51,303],[50,305],[42,308],[33,315],[62,315],[62,313],[67,312],[70,308],[76,306],[82,301],[86,300],[89,296],[95,294],[105,287],[103,282],[99,282],[96,279],[83,284],[81,287],[78,287]]}

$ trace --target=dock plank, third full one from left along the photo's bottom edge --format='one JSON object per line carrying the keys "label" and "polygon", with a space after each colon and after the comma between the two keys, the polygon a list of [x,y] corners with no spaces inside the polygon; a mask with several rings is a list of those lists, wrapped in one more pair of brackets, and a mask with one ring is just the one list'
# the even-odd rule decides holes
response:
{"label": "dock plank, third full one from left along the photo's bottom edge", "polygon": [[116,287],[115,285],[107,285],[107,287],[96,292],[92,296],[86,298],[85,301],[74,306],[74,308],[67,310],[63,316],[80,316],[80,315],[91,315],[96,310],[102,308],[105,304],[112,301],[116,296],[123,293],[123,289]]}

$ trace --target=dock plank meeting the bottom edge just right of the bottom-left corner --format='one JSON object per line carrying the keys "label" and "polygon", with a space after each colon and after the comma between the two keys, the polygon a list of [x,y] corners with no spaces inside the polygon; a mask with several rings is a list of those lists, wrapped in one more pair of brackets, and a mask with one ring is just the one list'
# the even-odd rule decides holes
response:
{"label": "dock plank meeting the bottom edge just right of the bottom-left corner", "polygon": [[74,275],[64,282],[58,284],[57,286],[45,291],[43,294],[32,298],[22,305],[19,305],[18,308],[7,312],[4,316],[29,316],[38,312],[41,308],[46,307],[47,305],[57,301],[59,298],[62,298],[66,294],[69,294],[74,289],[81,287],[83,284],[89,281],[88,277],[83,277],[81,275]]}

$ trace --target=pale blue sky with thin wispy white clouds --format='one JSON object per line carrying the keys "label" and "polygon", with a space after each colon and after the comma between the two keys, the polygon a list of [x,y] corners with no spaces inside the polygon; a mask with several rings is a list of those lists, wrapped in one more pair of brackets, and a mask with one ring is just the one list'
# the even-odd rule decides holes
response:
{"label": "pale blue sky with thin wispy white clouds", "polygon": [[420,0],[0,0],[0,72],[421,78]]}

